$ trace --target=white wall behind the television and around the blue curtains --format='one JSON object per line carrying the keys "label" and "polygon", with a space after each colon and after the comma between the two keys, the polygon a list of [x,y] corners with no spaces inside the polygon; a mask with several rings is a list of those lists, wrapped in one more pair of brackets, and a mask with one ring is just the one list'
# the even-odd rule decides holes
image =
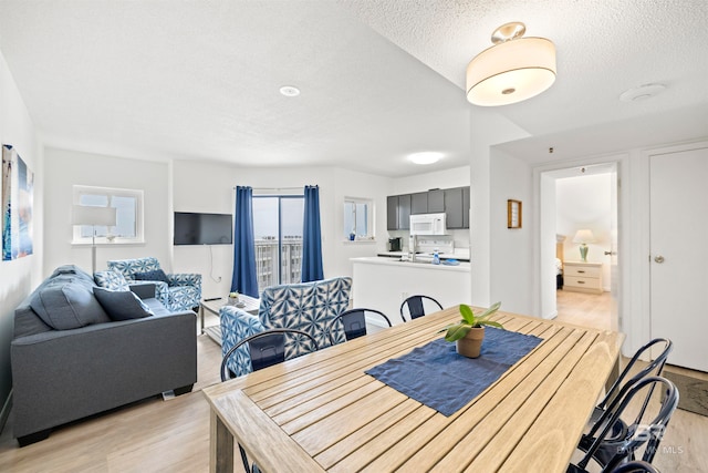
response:
{"label": "white wall behind the television and around the blue curtains", "polygon": [[[175,161],[173,176],[175,212],[233,214],[233,187],[237,185],[253,188],[302,188],[305,185],[319,185],[322,258],[324,276],[327,278],[352,276],[350,258],[375,256],[378,250],[385,249],[386,195],[391,187],[389,178],[334,167],[235,167],[191,161]],[[344,240],[344,197],[374,199],[376,232],[374,243]],[[223,297],[231,286],[233,247],[215,245],[211,246],[211,251],[214,253],[212,267],[209,248],[174,247],[174,266],[179,271],[201,273],[205,297]]]}

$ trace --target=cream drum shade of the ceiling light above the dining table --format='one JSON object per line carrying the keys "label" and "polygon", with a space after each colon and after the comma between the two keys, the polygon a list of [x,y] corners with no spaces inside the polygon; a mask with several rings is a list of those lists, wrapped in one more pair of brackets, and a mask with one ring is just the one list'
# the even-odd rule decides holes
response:
{"label": "cream drum shade of the ceiling light above the dining table", "polygon": [[467,65],[467,100],[481,106],[521,102],[549,89],[555,72],[552,41],[509,40],[482,51]]}

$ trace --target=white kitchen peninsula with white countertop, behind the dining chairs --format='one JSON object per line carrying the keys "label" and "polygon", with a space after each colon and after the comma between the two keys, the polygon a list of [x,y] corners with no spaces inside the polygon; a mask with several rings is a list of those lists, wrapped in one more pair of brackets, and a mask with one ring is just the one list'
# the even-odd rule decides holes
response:
{"label": "white kitchen peninsula with white countertop, behind the dining chairs", "polygon": [[[433,265],[428,260],[400,261],[397,258],[352,258],[353,307],[384,312],[392,323],[402,323],[400,304],[417,294],[437,299],[442,307],[470,304],[470,264]],[[371,320],[372,325],[381,325]]]}

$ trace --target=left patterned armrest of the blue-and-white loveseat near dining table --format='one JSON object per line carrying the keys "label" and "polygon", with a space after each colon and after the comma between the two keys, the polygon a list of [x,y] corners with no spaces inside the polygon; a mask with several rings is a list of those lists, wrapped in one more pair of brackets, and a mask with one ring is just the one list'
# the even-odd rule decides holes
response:
{"label": "left patterned armrest of the blue-and-white loveseat near dining table", "polygon": [[[225,356],[235,345],[256,333],[266,330],[260,319],[233,306],[219,309],[221,319],[221,356]],[[242,347],[231,356],[227,362],[235,376],[250,373],[251,358],[247,347]]]}

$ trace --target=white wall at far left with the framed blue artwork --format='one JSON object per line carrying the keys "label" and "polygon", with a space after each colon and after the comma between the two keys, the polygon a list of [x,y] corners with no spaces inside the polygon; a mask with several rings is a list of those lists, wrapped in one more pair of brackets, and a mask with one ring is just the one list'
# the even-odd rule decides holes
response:
{"label": "white wall at far left with the framed blue artwork", "polygon": [[43,249],[43,169],[42,146],[32,119],[22,101],[4,56],[0,53],[0,142],[12,145],[28,167],[34,172],[33,255],[13,261],[0,261],[0,429],[9,412],[12,377],[10,341],[14,308],[42,278]]}

